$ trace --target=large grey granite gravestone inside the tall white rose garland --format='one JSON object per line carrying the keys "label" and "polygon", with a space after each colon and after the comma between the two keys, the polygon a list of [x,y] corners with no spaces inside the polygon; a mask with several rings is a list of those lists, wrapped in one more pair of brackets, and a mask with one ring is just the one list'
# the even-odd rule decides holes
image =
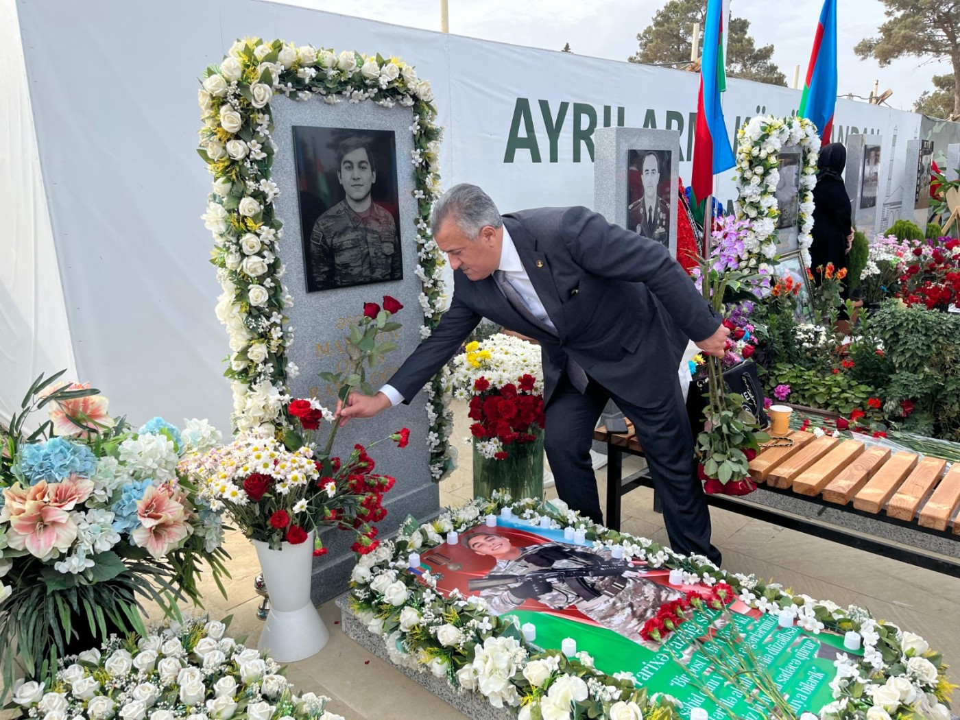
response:
{"label": "large grey granite gravestone inside the tall white rose garland", "polygon": [[[415,178],[410,155],[414,149],[414,113],[410,108],[381,108],[370,102],[328,105],[314,98],[299,102],[284,97],[275,97],[271,102],[274,111],[274,140],[276,156],[273,165],[273,180],[280,188],[276,198],[276,215],[283,222],[283,241],[279,243],[280,259],[287,266],[283,280],[294,298],[293,307],[286,310],[289,323],[294,326],[294,343],[287,350],[290,360],[300,368],[300,374],[289,381],[290,393],[296,397],[314,396],[331,410],[336,406],[336,388],[326,383],[319,372],[343,372],[348,367],[345,340],[352,324],[363,314],[364,302],[382,303],[384,295],[390,295],[403,303],[404,308],[395,319],[403,326],[390,333],[390,340],[397,348],[385,359],[382,367],[368,372],[368,381],[374,389],[379,388],[403,360],[420,344],[420,326],[423,314],[420,309],[420,279],[416,275],[418,265],[416,241],[417,201],[413,197]],[[393,133],[396,157],[377,156],[377,183],[393,183],[396,206],[387,206],[384,212],[395,214],[396,230],[402,256],[402,279],[353,284],[322,292],[307,292],[305,273],[305,243],[301,227],[299,188],[304,183],[316,180],[328,193],[330,203],[343,192],[338,186],[337,160],[328,165],[313,158],[315,172],[321,178],[304,178],[305,166],[302,156],[296,160],[294,128],[351,129],[367,136],[383,137]],[[298,131],[302,135],[302,131]],[[345,134],[341,132],[340,134]],[[349,133],[346,133],[349,134]],[[332,143],[339,139],[336,135]],[[326,149],[329,157],[336,156],[336,148]],[[376,151],[373,151],[377,155]],[[386,161],[385,161],[386,159]],[[298,177],[300,165],[300,178]],[[332,167],[331,167],[332,165]],[[325,169],[325,172],[324,172]],[[392,177],[391,177],[392,176]],[[325,183],[325,185],[324,185]],[[336,195],[339,192],[340,195]],[[374,201],[377,196],[373,195]],[[386,204],[385,204],[386,206]],[[309,237],[312,228],[306,228]],[[386,338],[383,338],[386,339]],[[376,471],[396,477],[396,485],[385,497],[387,517],[377,523],[381,538],[394,535],[403,519],[409,514],[421,522],[440,512],[440,491],[430,477],[429,450],[426,438],[429,421],[426,414],[426,398],[421,392],[409,405],[381,413],[372,420],[356,420],[338,431],[333,445],[333,454],[347,457],[353,444],[370,444],[384,438],[400,427],[410,428],[411,442],[400,449],[391,442],[379,444],[371,450]],[[325,438],[325,436],[324,436]],[[352,533],[326,528],[321,534],[329,553],[318,559],[313,569],[311,596],[320,604],[347,589],[348,577],[354,564],[354,555],[349,546]]]}

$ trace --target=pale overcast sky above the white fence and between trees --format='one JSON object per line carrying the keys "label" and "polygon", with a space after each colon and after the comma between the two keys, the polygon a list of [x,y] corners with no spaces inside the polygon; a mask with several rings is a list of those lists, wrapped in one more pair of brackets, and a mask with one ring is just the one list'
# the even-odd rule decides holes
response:
{"label": "pale overcast sky above the white fence and between trees", "polygon": [[[283,0],[289,5],[368,17],[396,25],[440,30],[440,0]],[[574,53],[626,60],[636,52],[636,34],[650,24],[666,0],[448,0],[450,32],[528,47],[560,50],[569,42]],[[918,58],[897,60],[881,68],[876,60],[859,60],[853,46],[876,35],[884,21],[879,0],[839,0],[837,16],[838,92],[869,96],[874,81],[889,88],[893,108],[910,109],[930,78],[950,72],[947,62]],[[750,20],[758,46],[773,44],[774,61],[787,83],[793,68],[806,63],[823,0],[731,0],[732,14]],[[771,12],[776,8],[776,12]]]}

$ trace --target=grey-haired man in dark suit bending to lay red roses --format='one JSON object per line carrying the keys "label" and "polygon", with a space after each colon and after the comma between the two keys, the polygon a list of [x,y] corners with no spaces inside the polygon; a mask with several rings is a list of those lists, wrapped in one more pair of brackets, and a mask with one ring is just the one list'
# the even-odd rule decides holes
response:
{"label": "grey-haired man in dark suit bending to lay red roses", "polygon": [[450,308],[379,393],[338,405],[342,421],[409,402],[486,317],[540,341],[544,442],[561,499],[602,521],[589,449],[612,398],[634,422],[673,549],[719,563],[678,368],[687,338],[722,355],[730,331],[684,269],[660,244],[586,207],[501,218],[466,183],[434,204],[432,227],[454,271]]}

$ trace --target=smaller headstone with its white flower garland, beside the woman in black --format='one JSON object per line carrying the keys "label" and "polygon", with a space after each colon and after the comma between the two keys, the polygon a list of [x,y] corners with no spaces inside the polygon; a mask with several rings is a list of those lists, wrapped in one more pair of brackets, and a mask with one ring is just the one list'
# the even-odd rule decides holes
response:
{"label": "smaller headstone with its white flower garland, beside the woman in black", "polygon": [[809,263],[820,137],[806,118],[752,118],[737,131],[737,219],[751,222],[744,246],[755,266],[800,252]]}

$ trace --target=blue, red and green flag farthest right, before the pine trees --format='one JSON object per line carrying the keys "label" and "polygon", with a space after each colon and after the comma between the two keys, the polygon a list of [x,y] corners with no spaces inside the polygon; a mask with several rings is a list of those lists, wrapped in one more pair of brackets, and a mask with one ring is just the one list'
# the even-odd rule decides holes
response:
{"label": "blue, red and green flag farthest right, before the pine trees", "polygon": [[799,114],[817,126],[820,139],[828,143],[833,132],[833,108],[837,104],[837,4],[824,0],[817,36],[813,38],[810,65],[806,68],[804,96]]}

